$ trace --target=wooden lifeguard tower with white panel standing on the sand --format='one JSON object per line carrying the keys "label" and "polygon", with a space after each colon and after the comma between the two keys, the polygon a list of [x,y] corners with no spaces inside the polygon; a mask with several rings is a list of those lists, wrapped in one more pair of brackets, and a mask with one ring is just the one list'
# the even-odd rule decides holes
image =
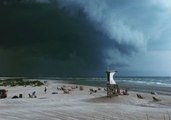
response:
{"label": "wooden lifeguard tower with white panel standing on the sand", "polygon": [[114,80],[114,75],[117,71],[106,71],[107,74],[107,97],[112,97],[120,94],[120,89]]}

